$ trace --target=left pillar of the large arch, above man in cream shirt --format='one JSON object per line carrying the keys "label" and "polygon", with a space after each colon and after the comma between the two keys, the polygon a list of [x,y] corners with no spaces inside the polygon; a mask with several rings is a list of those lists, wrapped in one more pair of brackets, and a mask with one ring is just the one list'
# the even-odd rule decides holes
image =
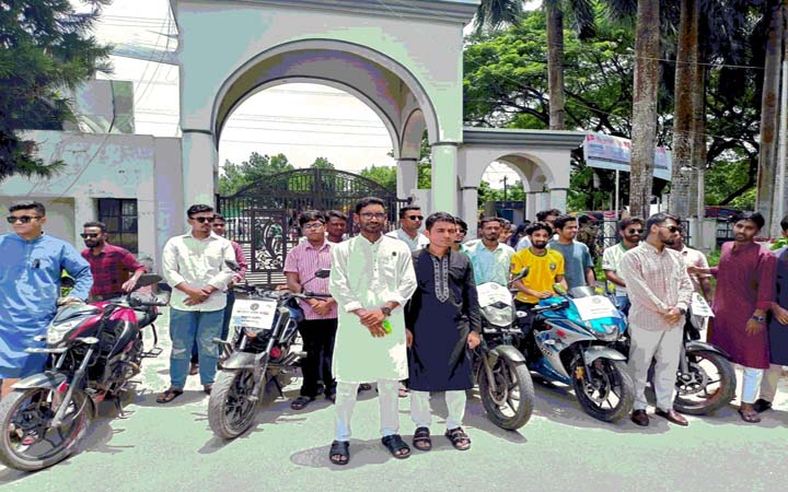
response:
{"label": "left pillar of the large arch, above man in cream shirt", "polygon": [[208,130],[183,130],[182,162],[184,204],[181,216],[195,203],[215,206],[219,162],[213,136]]}

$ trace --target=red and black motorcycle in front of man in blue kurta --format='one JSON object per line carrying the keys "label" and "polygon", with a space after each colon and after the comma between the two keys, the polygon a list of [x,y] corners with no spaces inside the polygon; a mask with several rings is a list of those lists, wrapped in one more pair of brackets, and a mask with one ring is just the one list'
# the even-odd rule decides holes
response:
{"label": "red and black motorcycle in front of man in blue kurta", "polygon": [[[158,276],[143,274],[137,289],[157,284]],[[129,293],[118,301],[70,303],[58,308],[42,348],[26,352],[48,354],[45,372],[26,377],[0,401],[0,461],[35,471],[61,461],[84,436],[101,401],[112,400],[118,418],[126,418],[123,394],[140,373],[144,358],[155,358],[158,306],[153,294]],[[153,330],[154,347],[146,352],[142,329]]]}

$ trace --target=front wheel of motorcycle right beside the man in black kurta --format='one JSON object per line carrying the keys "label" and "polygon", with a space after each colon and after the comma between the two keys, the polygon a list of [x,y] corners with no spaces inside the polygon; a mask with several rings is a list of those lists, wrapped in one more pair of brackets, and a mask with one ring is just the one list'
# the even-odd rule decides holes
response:
{"label": "front wheel of motorcycle right beside the man in black kurta", "polygon": [[487,418],[507,431],[515,431],[531,419],[534,406],[534,388],[531,373],[524,362],[513,361],[500,354],[495,362],[493,379],[495,388],[487,379],[483,366],[479,368],[479,396]]}

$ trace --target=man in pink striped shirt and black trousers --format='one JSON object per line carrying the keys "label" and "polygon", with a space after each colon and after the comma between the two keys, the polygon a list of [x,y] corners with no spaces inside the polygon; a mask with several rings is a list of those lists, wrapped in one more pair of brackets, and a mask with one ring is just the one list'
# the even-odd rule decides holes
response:
{"label": "man in pink striped shirt and black trousers", "polygon": [[[288,289],[292,292],[309,290],[317,294],[328,293],[328,279],[317,279],[321,269],[331,269],[331,245],[325,235],[326,218],[315,210],[306,210],[299,218],[299,227],[306,242],[296,246],[285,259],[285,276]],[[325,397],[334,400],[336,382],[332,375],[334,339],[337,330],[337,305],[333,297],[299,300],[304,320],[299,324],[306,359],[301,371],[303,383],[301,395],[290,407],[301,410],[318,395],[323,379]]]}

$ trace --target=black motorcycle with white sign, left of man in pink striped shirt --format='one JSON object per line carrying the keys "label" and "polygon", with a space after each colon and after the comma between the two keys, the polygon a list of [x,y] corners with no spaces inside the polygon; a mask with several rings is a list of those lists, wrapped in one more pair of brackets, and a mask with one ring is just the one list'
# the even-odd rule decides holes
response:
{"label": "black motorcycle with white sign, left of man in pink striped shirt", "polygon": [[[314,278],[325,279],[328,273],[318,270]],[[282,396],[282,378],[294,372],[296,364],[306,355],[292,349],[298,324],[303,319],[296,300],[328,297],[248,285],[235,290],[239,296],[230,321],[230,340],[213,339],[222,354],[208,400],[208,423],[222,440],[235,438],[250,429],[269,384]]]}

